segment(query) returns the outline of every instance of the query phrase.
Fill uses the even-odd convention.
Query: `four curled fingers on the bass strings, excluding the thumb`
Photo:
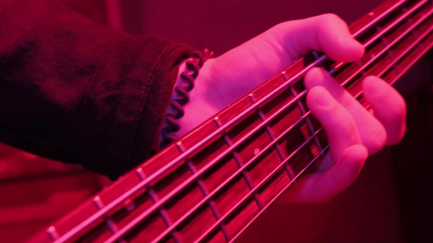
[[[324,202],[344,191],[358,177],[368,155],[396,144],[405,133],[405,101],[378,77],[362,84],[372,112],[340,87],[330,75],[315,68],[305,77],[307,104],[324,126],[330,151],[284,195],[282,202]]]

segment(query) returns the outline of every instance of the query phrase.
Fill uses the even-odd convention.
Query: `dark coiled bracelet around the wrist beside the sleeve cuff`
[[[159,144],[160,148],[165,148],[168,144],[177,139],[175,133],[181,128],[178,119],[181,119],[185,112],[183,106],[190,101],[188,94],[194,88],[194,81],[199,76],[199,70],[207,59],[212,57],[213,52],[204,48],[203,50],[196,50],[192,56],[185,62],[186,70],[180,75],[181,82],[178,82],[174,87],[174,94],[170,101],[169,113],[165,115],[165,126],[161,130],[162,140]]]

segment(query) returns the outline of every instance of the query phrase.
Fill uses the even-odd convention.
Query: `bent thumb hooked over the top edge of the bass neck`
[[[344,62],[356,61],[365,52],[364,47],[353,39],[347,23],[335,14],[288,21],[276,27],[282,33],[282,44],[293,60],[311,50],[325,52],[331,59]]]

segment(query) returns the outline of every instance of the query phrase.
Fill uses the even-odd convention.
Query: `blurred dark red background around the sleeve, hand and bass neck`
[[[216,55],[273,25],[333,12],[347,22],[379,0],[65,0],[101,24],[208,47]],[[408,105],[401,144],[371,157],[326,204],[276,204],[239,242],[433,242],[432,52],[396,87]],[[0,144],[0,242],[23,242],[109,184],[82,168]]]

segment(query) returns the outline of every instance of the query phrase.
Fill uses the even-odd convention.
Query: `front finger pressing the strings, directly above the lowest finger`
[[[311,113],[326,131],[331,158],[334,162],[340,159],[344,150],[361,143],[353,117],[333,99],[325,88],[321,86],[311,88],[308,91],[306,102]]]

